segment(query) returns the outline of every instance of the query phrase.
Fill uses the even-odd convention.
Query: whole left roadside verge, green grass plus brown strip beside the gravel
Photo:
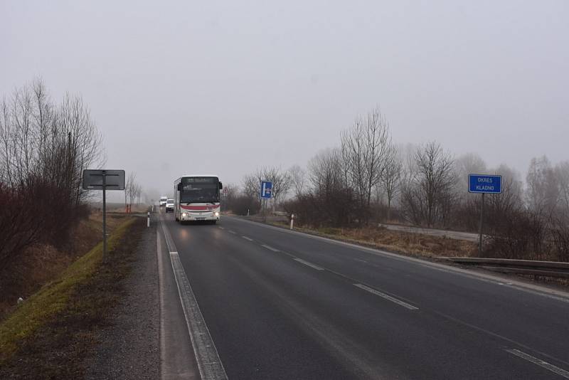
[[[133,232],[140,233],[143,222],[116,218],[106,257],[97,244],[0,322],[0,377],[80,375],[92,329],[116,303],[136,247]]]

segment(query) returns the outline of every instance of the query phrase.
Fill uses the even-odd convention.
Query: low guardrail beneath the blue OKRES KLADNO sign
[[[507,258],[447,258],[440,260],[457,264],[477,265],[479,268],[500,273],[569,278],[569,263],[558,261],[512,260]]]

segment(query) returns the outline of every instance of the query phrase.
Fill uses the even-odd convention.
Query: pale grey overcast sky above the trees
[[[0,0],[0,96],[83,96],[151,194],[305,167],[379,105],[393,140],[569,159],[569,2]],[[118,196],[118,194],[117,194]]]

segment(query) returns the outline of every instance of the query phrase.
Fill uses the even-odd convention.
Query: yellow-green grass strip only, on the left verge
[[[108,240],[109,254],[116,250],[134,218],[122,221]],[[58,279],[41,289],[19,305],[14,312],[0,323],[0,367],[8,363],[15,354],[33,342],[34,335],[63,312],[77,314],[87,305],[72,302],[73,297],[85,284],[97,276],[102,261],[102,243],[78,258],[61,273]]]

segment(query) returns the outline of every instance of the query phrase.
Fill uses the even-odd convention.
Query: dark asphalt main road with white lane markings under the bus
[[[187,366],[211,379],[569,379],[566,293],[238,218],[159,218],[178,285],[164,378],[198,378],[174,368],[191,340]]]

